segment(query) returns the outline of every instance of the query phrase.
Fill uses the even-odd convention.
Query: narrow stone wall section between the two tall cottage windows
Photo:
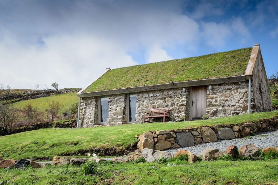
[[[126,94],[109,96],[107,126],[126,124]]]

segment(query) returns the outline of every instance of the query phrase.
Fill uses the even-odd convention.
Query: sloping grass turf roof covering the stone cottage
[[[252,48],[112,69],[83,92],[244,75]]]

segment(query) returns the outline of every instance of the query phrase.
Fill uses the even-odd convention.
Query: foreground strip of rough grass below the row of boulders
[[[261,161],[102,162],[97,175],[83,175],[77,166],[42,169],[0,169],[3,184],[277,184],[278,159]]]

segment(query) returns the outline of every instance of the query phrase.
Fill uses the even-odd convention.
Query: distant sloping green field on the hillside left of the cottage
[[[46,110],[48,108],[48,102],[52,101],[59,101],[62,105],[61,111],[69,109],[69,107],[78,102],[78,97],[76,93],[65,93],[62,95],[53,95],[48,97],[36,98],[36,99],[29,99],[23,100],[20,102],[13,103],[12,105],[15,107],[25,107],[28,103],[33,105],[33,107],[37,107],[38,110]]]

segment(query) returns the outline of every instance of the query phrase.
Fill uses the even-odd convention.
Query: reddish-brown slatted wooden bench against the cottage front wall
[[[149,121],[145,121],[146,118],[149,118]],[[168,120],[170,121],[169,108],[156,108],[150,109],[150,113],[144,112],[143,123],[151,123],[151,118],[163,118],[163,122],[165,122],[165,118],[168,118]]]

